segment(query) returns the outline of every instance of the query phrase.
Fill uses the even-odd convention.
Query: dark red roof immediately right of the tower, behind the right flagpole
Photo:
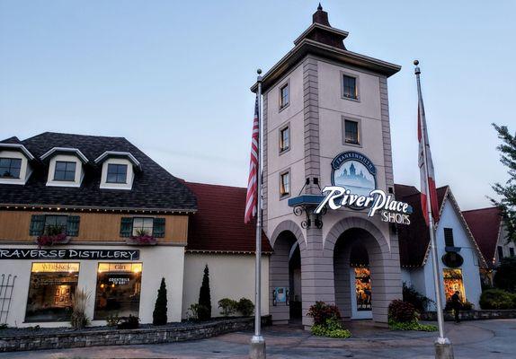
[[[437,188],[439,207],[446,195],[448,186]],[[430,243],[428,226],[424,222],[421,208],[421,195],[413,186],[395,185],[396,199],[408,203],[413,208],[410,225],[398,225],[399,258],[402,267],[421,267]]]

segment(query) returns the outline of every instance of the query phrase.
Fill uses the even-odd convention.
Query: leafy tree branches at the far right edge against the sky
[[[511,135],[506,126],[493,124],[502,140],[496,149],[501,152],[500,162],[508,167],[509,180],[505,185],[495,183],[494,192],[502,197],[500,200],[491,199],[495,206],[500,208],[503,223],[507,229],[507,241],[516,242],[516,134]]]

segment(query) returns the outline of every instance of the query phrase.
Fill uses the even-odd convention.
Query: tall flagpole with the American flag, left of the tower
[[[258,166],[257,166],[257,204],[256,204],[256,258],[254,272],[254,336],[251,338],[249,357],[265,358],[265,339],[262,336],[262,70],[256,71],[258,77]]]

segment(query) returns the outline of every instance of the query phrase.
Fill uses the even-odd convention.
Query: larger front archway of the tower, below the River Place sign
[[[390,247],[382,232],[362,218],[334,225],[325,241],[333,250],[335,303],[344,319],[387,323],[388,304],[401,297],[396,237]]]

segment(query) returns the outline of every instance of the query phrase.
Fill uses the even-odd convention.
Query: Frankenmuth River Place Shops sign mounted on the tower
[[[369,208],[369,217],[380,215],[383,222],[410,224],[412,207],[378,189],[376,176],[374,164],[363,154],[340,153],[332,161],[332,186],[323,188],[325,198],[314,212],[320,214],[325,206]]]

